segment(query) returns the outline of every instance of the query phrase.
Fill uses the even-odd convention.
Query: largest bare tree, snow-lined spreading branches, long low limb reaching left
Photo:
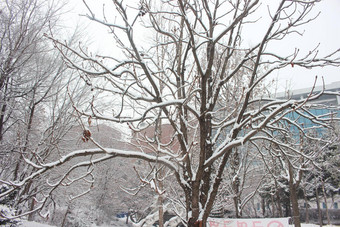
[[[72,48],[57,39],[51,40],[86,84],[103,94],[93,96],[90,111],[75,106],[83,122],[84,140],[97,148],[73,151],[48,163],[30,161],[35,172],[18,183],[8,183],[9,186],[27,184],[57,166],[82,157],[81,162],[69,167],[49,185],[51,188],[40,196],[38,209],[76,169],[84,172],[73,181],[91,177],[88,167],[107,159],[142,159],[151,166],[161,164],[171,171],[182,191],[170,200],[180,220],[187,226],[206,226],[234,149],[247,142],[256,145],[267,141],[282,152],[284,148],[307,158],[297,149],[299,141],[290,143],[276,136],[289,136],[287,125],[294,125],[302,136],[314,139],[303,125],[286,117],[287,114],[294,112],[328,127],[331,116],[318,118],[304,109],[307,100],[317,99],[322,92],[311,93],[302,100],[265,98],[257,92],[268,75],[278,69],[339,65],[338,51],[318,56],[317,49],[312,49],[305,56],[298,51],[282,56],[268,48],[270,43],[298,33],[300,26],[315,19],[309,17],[309,13],[316,2],[278,2],[276,9],[269,10],[269,23],[262,39],[246,48],[241,43],[241,37],[246,35],[242,28],[258,22],[252,14],[259,0],[178,0],[161,1],[161,4],[140,1],[138,6],[128,5],[130,1],[114,0],[114,15],[118,18],[111,18],[112,13],[106,14],[105,8],[99,18],[84,1],[89,10],[87,17],[109,29],[119,54],[93,55],[84,47]],[[142,26],[144,30],[138,33]],[[153,39],[156,36],[158,38]],[[232,88],[237,86],[234,81],[240,72],[244,75],[244,86],[234,92]],[[226,94],[230,94],[228,97],[232,100],[225,99]],[[106,148],[97,143],[85,127],[85,122],[91,119],[128,125],[134,132],[157,129],[161,119],[172,129],[169,131],[171,141],[162,143],[163,133],[154,133],[146,140],[151,146],[156,141],[154,150]],[[297,166],[291,165],[291,168]],[[156,178],[157,174],[150,176]]]

